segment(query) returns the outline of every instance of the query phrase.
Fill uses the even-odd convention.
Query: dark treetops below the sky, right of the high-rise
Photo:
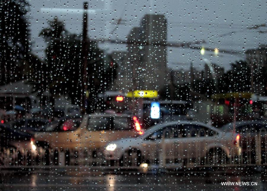
[[[257,81],[260,80],[263,86],[267,83],[264,77],[266,73],[267,71],[262,68],[257,75],[254,75],[254,78]],[[163,99],[190,100],[190,91],[200,93],[206,97],[214,93],[250,92],[251,69],[247,62],[242,60],[236,61],[235,63],[231,63],[231,69],[229,71],[217,77],[217,83],[215,83],[214,78],[202,78],[184,85],[174,85],[171,83],[171,85],[160,92],[160,96]]]

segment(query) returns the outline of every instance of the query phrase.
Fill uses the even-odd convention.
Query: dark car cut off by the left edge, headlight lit
[[[0,165],[29,165],[36,156],[35,141],[30,133],[0,125]]]

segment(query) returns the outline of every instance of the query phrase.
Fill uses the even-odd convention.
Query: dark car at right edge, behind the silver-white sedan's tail
[[[222,127],[226,134],[233,133],[234,124]],[[267,122],[262,120],[236,121],[235,132],[239,134],[241,146],[241,163],[256,163],[257,160],[267,160]],[[258,154],[256,154],[258,153]]]

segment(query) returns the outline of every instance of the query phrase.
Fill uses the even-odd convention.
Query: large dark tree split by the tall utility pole
[[[81,35],[69,33],[57,17],[48,24],[40,33],[48,43],[42,82],[55,96],[68,93],[73,103],[79,104],[83,85]],[[95,42],[90,42],[88,46],[87,74],[89,103],[93,103],[96,95],[115,79],[112,58],[105,55]]]

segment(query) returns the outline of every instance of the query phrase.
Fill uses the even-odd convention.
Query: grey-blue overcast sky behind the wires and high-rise
[[[40,58],[45,57],[43,51],[46,43],[38,34],[47,27],[47,20],[53,17],[64,21],[66,29],[80,34],[82,31],[83,1],[29,1],[31,10],[28,20],[31,23],[32,50]],[[204,47],[215,48],[220,51],[235,50],[242,52],[257,48],[259,44],[266,44],[267,27],[247,29],[253,25],[266,24],[266,1],[131,1],[131,0],[94,0],[88,1],[88,36],[94,38],[111,38],[125,40],[134,26],[139,26],[145,14],[165,14],[167,18],[167,40],[170,42],[192,42],[205,40]],[[115,34],[111,31],[116,27],[114,23],[119,18],[126,20]],[[115,20],[115,21],[114,21]],[[222,34],[236,31],[232,35]],[[261,32],[259,32],[261,31]],[[125,45],[99,44],[108,52],[126,50]],[[230,55],[205,52],[202,56],[198,50],[183,48],[168,48],[168,66],[174,69],[188,69],[190,62],[201,69],[203,59],[211,60],[228,70],[229,63],[244,59],[244,55]]]

